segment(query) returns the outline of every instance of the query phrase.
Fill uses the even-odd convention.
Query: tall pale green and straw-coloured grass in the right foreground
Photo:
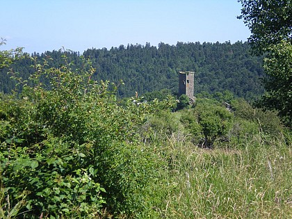
[[[163,151],[161,218],[291,218],[292,149],[283,138],[259,134],[213,150],[172,138]]]

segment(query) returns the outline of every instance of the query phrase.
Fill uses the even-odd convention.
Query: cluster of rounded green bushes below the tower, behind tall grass
[[[233,99],[228,108],[216,99],[196,99],[195,108],[178,113],[186,134],[191,136],[188,139],[201,147],[214,147],[215,143],[233,147],[258,134],[270,138],[286,135],[277,113],[253,108],[244,99]]]

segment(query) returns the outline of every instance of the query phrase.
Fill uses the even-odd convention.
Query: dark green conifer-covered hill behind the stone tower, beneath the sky
[[[47,56],[54,59],[51,65],[62,62],[62,51],[46,51],[44,54],[32,54],[40,58]],[[80,54],[67,52],[68,59],[81,65]],[[230,90],[238,97],[251,99],[263,92],[260,79],[263,76],[261,58],[250,54],[247,42],[200,43],[177,42],[176,45],[161,42],[158,47],[128,44],[127,47],[111,49],[88,49],[83,52],[85,58],[92,60],[96,68],[95,79],[125,83],[120,86],[120,97],[133,96],[137,91],[145,92],[168,88],[178,90],[178,72],[190,70],[195,72],[195,93],[209,93]],[[13,68],[24,78],[33,69],[31,60],[24,58],[17,61]],[[0,91],[10,92],[13,83],[1,70]]]

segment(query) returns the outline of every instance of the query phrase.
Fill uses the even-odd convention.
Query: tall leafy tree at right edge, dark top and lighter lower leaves
[[[292,126],[292,4],[291,0],[239,0],[241,16],[250,28],[254,54],[266,54],[266,93],[259,104],[275,109]]]

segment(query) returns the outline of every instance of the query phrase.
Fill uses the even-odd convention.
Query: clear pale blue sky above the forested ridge
[[[0,0],[0,50],[244,42],[250,31],[240,14],[237,0]]]

